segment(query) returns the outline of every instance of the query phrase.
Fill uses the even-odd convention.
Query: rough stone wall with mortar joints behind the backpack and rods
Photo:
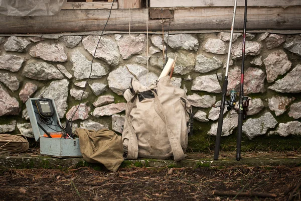
[[[228,89],[239,89],[242,34],[235,33]],[[229,33],[0,37],[0,133],[33,137],[25,102],[29,97],[55,99],[61,121],[73,116],[74,127],[121,133],[125,99],[131,78],[147,85],[163,68],[163,49],[177,56],[172,83],[187,91],[196,124],[195,136],[216,135],[221,85],[227,60]],[[246,35],[245,95],[251,97],[243,133],[301,135],[301,35]],[[168,50],[167,48],[168,41]],[[91,71],[92,55],[95,53]],[[148,66],[146,65],[148,61]],[[225,111],[223,136],[233,134],[238,115]],[[199,125],[199,126],[198,126]],[[207,142],[204,142],[207,143]]]

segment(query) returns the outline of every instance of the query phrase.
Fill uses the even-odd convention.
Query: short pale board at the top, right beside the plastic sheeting
[[[92,1],[92,0],[87,0]],[[112,3],[109,2],[67,2],[62,10],[78,9],[111,9]],[[114,2],[112,9],[117,9],[118,4]]]

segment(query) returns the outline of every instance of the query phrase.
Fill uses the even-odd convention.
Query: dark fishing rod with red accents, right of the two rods
[[[243,81],[244,81],[244,57],[246,47],[246,27],[247,27],[247,4],[245,0],[244,19],[243,19],[243,41],[242,41],[242,61],[241,61],[241,74],[240,74],[240,89],[239,89],[239,105],[238,105],[238,133],[236,143],[236,160],[240,160],[241,152],[241,137],[242,137],[242,121],[246,119],[246,112],[249,107],[249,98],[243,94]]]

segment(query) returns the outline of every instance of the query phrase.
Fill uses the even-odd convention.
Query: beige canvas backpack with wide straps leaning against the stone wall
[[[192,120],[185,91],[165,76],[150,87],[132,80],[123,96],[127,104],[122,142],[127,159],[184,159]]]

